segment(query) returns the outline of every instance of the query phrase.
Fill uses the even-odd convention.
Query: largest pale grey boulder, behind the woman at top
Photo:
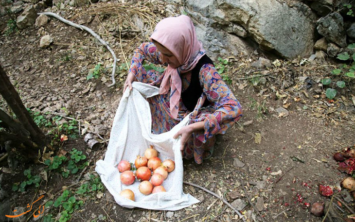
[[[187,0],[185,5],[190,16],[204,25],[239,36],[245,36],[244,29],[260,48],[285,58],[313,51],[311,19],[278,0]]]

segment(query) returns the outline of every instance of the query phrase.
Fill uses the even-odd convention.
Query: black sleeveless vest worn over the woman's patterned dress
[[[195,68],[191,70],[191,82],[189,87],[181,93],[181,99],[186,108],[189,111],[194,111],[194,108],[197,104],[198,99],[201,97],[203,89],[200,85],[199,74],[203,65],[212,64],[212,60],[205,54],[197,62]],[[210,104],[210,101],[205,100],[202,106],[207,106]]]

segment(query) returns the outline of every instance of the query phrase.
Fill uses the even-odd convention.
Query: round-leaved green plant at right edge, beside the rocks
[[[349,45],[348,49],[354,50],[355,43]],[[334,99],[337,95],[337,89],[334,88],[335,86],[339,88],[344,88],[346,86],[346,83],[342,80],[342,78],[345,78],[345,80],[355,78],[355,52],[352,55],[350,55],[348,52],[340,53],[337,55],[337,59],[342,61],[349,60],[351,63],[349,65],[342,64],[338,68],[332,70],[331,73],[339,78],[339,80],[334,82],[332,85],[332,79],[330,78],[324,78],[321,80],[323,85],[331,85],[331,87],[328,87],[325,91],[325,95],[329,100]]]

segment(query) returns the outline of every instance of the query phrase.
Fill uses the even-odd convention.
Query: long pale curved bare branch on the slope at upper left
[[[57,14],[54,14],[52,12],[41,12],[41,13],[37,13],[38,15],[46,15],[46,16],[52,16],[52,17],[55,17],[57,18],[58,20],[68,24],[68,25],[71,25],[77,29],[80,29],[80,30],[85,30],[87,31],[89,34],[91,34],[92,36],[94,36],[97,40],[99,40],[99,42],[101,44],[103,44],[104,46],[106,46],[106,48],[108,49],[108,51],[111,52],[112,56],[113,56],[113,68],[112,68],[112,75],[111,75],[111,80],[112,80],[112,84],[110,85],[107,85],[108,87],[112,87],[116,84],[116,81],[115,81],[115,72],[116,72],[116,63],[117,63],[117,57],[116,57],[116,54],[115,52],[111,49],[111,47],[109,47],[108,43],[106,41],[104,41],[98,34],[96,34],[94,31],[92,31],[90,28],[84,26],[84,25],[79,25],[79,24],[76,24],[72,21],[69,21],[61,16],[58,16]]]

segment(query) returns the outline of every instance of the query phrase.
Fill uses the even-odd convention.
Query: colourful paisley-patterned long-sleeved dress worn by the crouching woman
[[[134,51],[129,68],[129,71],[136,76],[138,81],[152,84],[162,73],[156,70],[145,70],[142,66],[144,60],[153,64],[164,65],[161,62],[160,52],[154,43],[142,43]],[[190,123],[204,121],[204,130],[193,133],[183,152],[183,157],[187,159],[194,157],[197,164],[202,163],[203,157],[212,155],[215,135],[225,134],[226,130],[242,116],[240,103],[212,64],[202,66],[199,72],[199,80],[203,93],[190,116]],[[182,91],[184,91],[190,85],[191,72],[181,74],[181,81]],[[157,86],[159,87],[159,85]],[[154,134],[161,134],[171,130],[190,113],[180,98],[179,112],[177,119],[174,119],[170,115],[169,96],[170,92],[147,99],[150,104],[152,131]],[[202,107],[206,99],[210,104]]]

